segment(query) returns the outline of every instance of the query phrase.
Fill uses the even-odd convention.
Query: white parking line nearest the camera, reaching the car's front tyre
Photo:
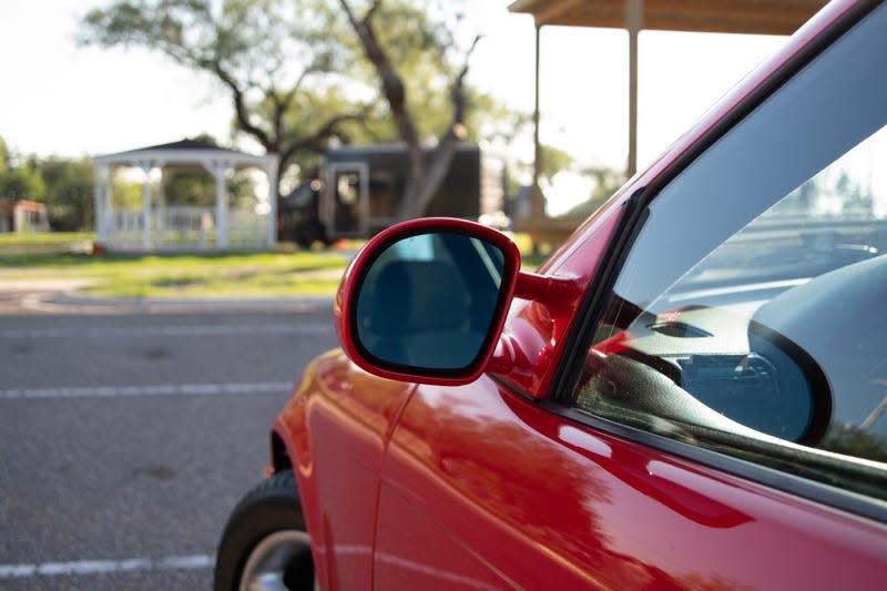
[[[210,556],[167,557],[161,559],[132,558],[126,560],[78,560],[40,564],[0,564],[0,580],[31,577],[64,577],[71,574],[111,574],[132,571],[211,569],[215,559]]]

